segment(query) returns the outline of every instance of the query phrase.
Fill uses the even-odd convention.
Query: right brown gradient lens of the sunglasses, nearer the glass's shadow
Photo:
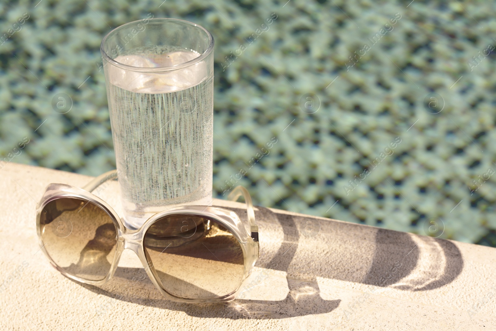
[[[170,215],[146,231],[144,250],[163,289],[184,299],[213,299],[238,289],[245,272],[243,250],[214,220]]]

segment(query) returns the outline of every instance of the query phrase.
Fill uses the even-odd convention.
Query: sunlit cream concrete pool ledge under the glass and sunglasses
[[[496,249],[263,207],[241,300],[167,301],[148,278],[132,280],[133,253],[106,285],[79,284],[39,251],[35,205],[49,183],[90,179],[0,170],[1,330],[496,330]],[[114,182],[100,196],[121,213],[118,195]],[[214,204],[246,217],[242,203]]]

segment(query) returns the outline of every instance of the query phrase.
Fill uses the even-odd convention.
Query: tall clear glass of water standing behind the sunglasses
[[[124,24],[102,52],[124,223],[212,201],[212,35],[180,19]]]

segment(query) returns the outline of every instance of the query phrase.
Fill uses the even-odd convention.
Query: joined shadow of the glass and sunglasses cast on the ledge
[[[447,240],[257,208],[261,255],[256,266],[286,272],[285,290],[289,292],[283,300],[176,303],[166,300],[147,277],[139,280],[141,268],[118,267],[107,284],[81,286],[111,298],[195,317],[281,319],[325,314],[339,306],[339,299],[322,299],[317,277],[427,291],[450,283],[463,269],[461,253]],[[246,210],[233,210],[246,219]],[[115,302],[107,300],[96,309],[110,314]]]

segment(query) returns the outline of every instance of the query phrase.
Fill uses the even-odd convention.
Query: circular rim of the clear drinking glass
[[[172,71],[172,70],[182,69],[182,68],[185,68],[185,67],[188,67],[188,66],[192,66],[194,64],[197,64],[198,62],[204,60],[207,56],[209,56],[210,53],[212,53],[212,51],[214,49],[214,37],[212,36],[212,34],[207,29],[205,29],[203,26],[201,26],[199,24],[196,24],[196,23],[193,23],[193,22],[190,22],[190,21],[186,21],[184,19],[167,18],[167,17],[150,18],[149,20],[150,21],[155,21],[155,22],[157,22],[157,21],[178,22],[178,23],[181,23],[181,24],[186,24],[186,25],[191,25],[191,26],[197,27],[200,30],[203,30],[207,34],[209,45],[208,45],[207,49],[205,50],[205,52],[203,52],[202,54],[200,54],[200,56],[194,58],[193,60],[190,60],[190,61],[187,61],[187,62],[184,62],[184,63],[181,63],[181,64],[177,64],[177,65],[174,65],[174,66],[157,66],[157,67],[151,67],[150,68],[150,67],[124,65],[124,64],[122,64],[120,62],[117,62],[114,59],[112,59],[107,54],[107,52],[105,52],[103,50],[103,45],[105,44],[105,42],[107,41],[107,38],[109,38],[110,35],[116,33],[117,31],[123,29],[126,26],[129,26],[129,25],[132,25],[132,24],[137,24],[138,22],[141,22],[142,21],[142,19],[138,19],[138,20],[135,20],[135,21],[128,22],[128,23],[125,23],[123,25],[120,25],[117,28],[114,28],[112,31],[110,31],[109,33],[107,33],[105,35],[105,37],[103,37],[102,42],[100,43],[100,53],[102,54],[102,57],[106,61],[108,61],[110,64],[112,64],[114,66],[121,67],[121,68],[126,69],[126,70],[130,70],[130,71],[139,71],[139,72]]]

